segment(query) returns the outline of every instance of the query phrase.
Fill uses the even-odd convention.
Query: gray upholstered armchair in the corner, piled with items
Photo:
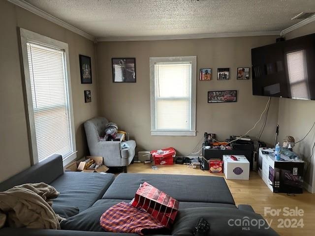
[[[90,155],[102,156],[104,165],[108,167],[123,167],[127,172],[127,165],[134,157],[136,142],[126,141],[129,148],[121,148],[119,141],[102,141],[105,136],[105,126],[108,120],[103,117],[96,117],[84,122]]]

